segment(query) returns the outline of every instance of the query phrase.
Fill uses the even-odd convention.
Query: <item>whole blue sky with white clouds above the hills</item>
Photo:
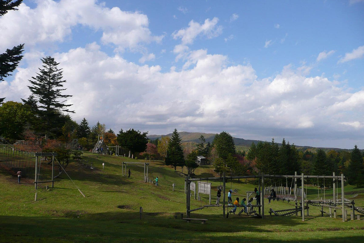
[[[116,133],[229,132],[364,148],[364,0],[24,0],[0,17],[0,82],[21,101],[52,56],[71,117]]]

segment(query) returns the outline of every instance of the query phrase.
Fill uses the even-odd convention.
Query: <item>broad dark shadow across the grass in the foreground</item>
[[[84,215],[80,211],[64,211],[63,217],[0,216],[1,242],[363,242],[363,230],[276,231],[276,227],[295,227],[298,220],[222,219],[206,217],[206,224],[186,223],[173,214],[139,212],[120,209]],[[178,217],[179,216],[179,217]],[[309,231],[309,232],[307,232]],[[302,233],[301,233],[302,232]]]

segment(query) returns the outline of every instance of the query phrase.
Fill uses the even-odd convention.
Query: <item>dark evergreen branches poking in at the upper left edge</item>
[[[18,10],[18,7],[23,0],[0,0],[0,16],[5,15],[10,10]],[[24,44],[14,46],[12,49],[7,49],[4,53],[0,53],[0,81],[4,81],[5,77],[10,76],[18,66],[23,56],[21,53],[24,51]],[[0,98],[0,104],[3,103],[5,98]]]

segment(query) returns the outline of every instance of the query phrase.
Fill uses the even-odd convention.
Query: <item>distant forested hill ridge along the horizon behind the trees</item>
[[[179,132],[178,133],[179,136],[181,137],[182,142],[195,142],[198,143],[198,138],[203,135],[206,139],[206,142],[212,142],[214,140],[215,137],[215,133],[190,133],[190,132]],[[172,133],[166,134],[166,135],[149,135],[147,136],[149,139],[151,140],[155,140],[157,138],[161,138],[162,136],[167,136],[167,137],[171,137]],[[258,144],[258,142],[264,142],[264,141],[260,141],[260,140],[248,140],[248,139],[243,139],[243,138],[234,138],[234,142],[236,146],[242,146],[242,147],[250,147],[250,145],[252,145],[252,142],[254,142],[255,144]],[[270,141],[267,141],[270,142]],[[281,145],[281,141],[276,141],[277,144],[280,146]],[[292,142],[289,141],[291,144]],[[294,141],[293,141],[294,142]],[[296,145],[296,144],[295,144]],[[353,144],[354,147],[354,144]],[[312,147],[312,146],[300,146],[300,145],[296,145],[296,148],[298,150],[317,150],[319,148],[316,147]],[[351,152],[351,149],[340,149],[340,148],[320,148],[320,149],[324,149],[325,151],[329,151],[329,150],[344,150],[344,151],[348,151]],[[361,149],[361,152],[363,152],[364,150]]]

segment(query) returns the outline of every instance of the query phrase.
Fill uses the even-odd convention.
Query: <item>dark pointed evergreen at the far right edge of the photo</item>
[[[359,186],[364,184],[363,156],[356,145],[351,152],[347,175],[350,185]]]

